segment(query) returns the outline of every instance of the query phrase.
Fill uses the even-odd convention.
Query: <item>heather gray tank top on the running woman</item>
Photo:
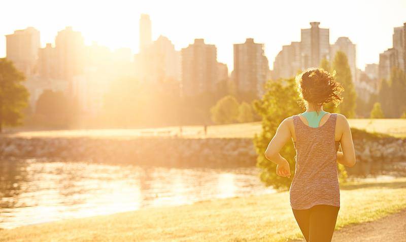
[[[289,190],[292,209],[309,209],[315,205],[340,207],[337,114],[331,113],[327,122],[317,128],[305,125],[299,115],[292,117],[296,133],[295,175]]]

